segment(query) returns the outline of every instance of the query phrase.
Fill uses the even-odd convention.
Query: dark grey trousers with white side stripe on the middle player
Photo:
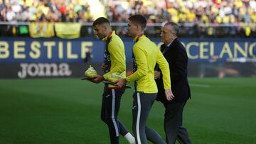
[[[146,126],[146,120],[149,111],[153,105],[156,94],[145,94],[143,92],[135,92],[133,95],[132,107],[132,131],[134,132],[137,144],[146,144],[147,140],[156,144],[165,144],[161,136],[156,131]]]

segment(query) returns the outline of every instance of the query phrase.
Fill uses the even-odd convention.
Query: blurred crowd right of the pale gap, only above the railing
[[[112,0],[107,4],[107,15],[114,22],[142,13],[153,23],[256,23],[255,0]]]

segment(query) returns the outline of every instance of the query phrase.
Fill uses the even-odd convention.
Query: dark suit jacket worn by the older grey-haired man
[[[166,46],[164,44],[161,45],[161,52],[164,51],[165,47]],[[157,88],[159,90],[156,101],[161,101],[164,104],[186,101],[188,98],[191,97],[187,78],[188,56],[186,53],[186,49],[176,38],[171,43],[169,48],[164,52],[164,57],[169,63],[171,75],[171,91],[173,92],[175,98],[171,101],[167,101],[164,92],[163,77],[161,74],[159,79],[156,79]],[[160,71],[158,66],[156,66],[156,70]]]

